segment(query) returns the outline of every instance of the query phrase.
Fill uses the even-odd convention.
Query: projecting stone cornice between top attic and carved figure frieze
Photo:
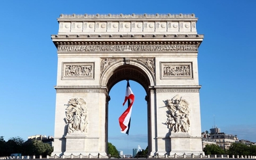
[[[52,35],[54,45],[197,45],[204,35]]]

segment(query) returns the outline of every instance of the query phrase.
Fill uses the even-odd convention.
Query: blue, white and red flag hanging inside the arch
[[[124,113],[118,118],[119,124],[121,127],[121,132],[129,135],[130,123],[131,123],[131,113],[132,113],[132,104],[134,102],[134,94],[132,93],[129,81],[127,81],[127,87],[125,92],[125,102],[128,100],[128,108],[124,111]]]

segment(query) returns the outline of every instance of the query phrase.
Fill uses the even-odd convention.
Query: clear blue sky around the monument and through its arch
[[[57,18],[64,14],[195,13],[202,131],[214,124],[239,139],[256,141],[256,1],[13,1],[1,0],[1,122],[4,140],[54,135]],[[131,82],[136,96],[130,135],[120,133],[118,116],[125,82],[110,92],[109,141],[118,150],[147,147],[145,91]],[[124,90],[124,95],[115,94]]]

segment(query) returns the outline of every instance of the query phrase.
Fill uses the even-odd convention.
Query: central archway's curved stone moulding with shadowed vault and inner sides
[[[136,81],[137,83],[141,84],[143,86],[146,95],[145,100],[147,100],[147,116],[150,115],[150,87],[152,86],[151,83],[154,82],[154,75],[152,75],[150,72],[148,72],[148,68],[146,65],[141,63],[141,61],[138,58],[124,58],[123,61],[119,61],[119,63],[115,63],[111,65],[108,69],[108,72],[106,74],[102,75],[102,83],[101,85],[106,85],[108,87],[108,90],[110,91],[111,88],[118,82],[123,80],[132,80]],[[108,76],[107,76],[108,75]],[[104,78],[103,78],[104,77]],[[150,82],[150,79],[153,80]],[[106,122],[108,122],[108,98],[106,103]],[[148,116],[150,117],[150,116]],[[152,132],[152,129],[150,127],[150,118],[147,118],[147,129],[148,129],[148,148],[151,148],[150,143],[150,133]],[[106,123],[106,135],[108,135],[108,123]],[[106,136],[106,141],[108,141],[108,136]]]

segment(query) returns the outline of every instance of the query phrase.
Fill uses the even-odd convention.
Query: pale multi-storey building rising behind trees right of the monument
[[[215,127],[210,129],[210,134],[207,132],[202,133],[202,146],[203,148],[207,144],[216,144],[223,149],[228,149],[232,143],[238,142],[238,138],[232,134],[225,134],[220,132],[220,129]]]

